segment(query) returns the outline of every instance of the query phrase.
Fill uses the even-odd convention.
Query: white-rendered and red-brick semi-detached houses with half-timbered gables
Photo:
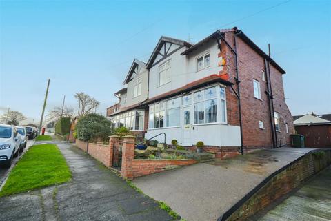
[[[283,74],[237,28],[197,44],[161,37],[146,64],[134,59],[126,88],[115,93],[120,108],[107,113],[114,127],[146,138],[165,133],[168,144],[203,141],[215,153],[276,148],[289,145],[294,131]],[[155,139],[163,142],[161,135]]]

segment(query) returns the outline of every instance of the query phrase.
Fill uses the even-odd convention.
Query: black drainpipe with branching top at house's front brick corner
[[[234,77],[234,80],[236,81],[236,85],[237,85],[237,91],[234,90],[234,88],[231,86],[232,90],[234,91],[234,94],[237,96],[238,99],[238,106],[239,106],[239,126],[240,126],[240,141],[241,141],[241,146],[240,146],[240,151],[241,151],[241,155],[243,155],[243,122],[241,119],[241,99],[240,99],[240,89],[239,89],[239,84],[240,84],[240,80],[239,80],[239,67],[238,67],[238,55],[237,55],[237,41],[236,41],[236,35],[239,34],[241,31],[238,30],[237,32],[237,28],[234,28],[234,30],[236,30],[236,33],[234,33],[233,35],[233,39],[234,39],[234,48],[232,48],[230,46],[230,44],[228,44],[228,41],[225,40],[225,37],[222,36],[221,32],[219,32],[219,37],[221,37],[221,39],[225,42],[225,44],[232,50],[232,52],[234,53],[234,61],[235,61],[235,65],[236,65],[236,77]],[[218,41],[218,40],[217,40]],[[219,42],[218,42],[219,44]],[[221,51],[221,47],[219,48],[219,50]]]

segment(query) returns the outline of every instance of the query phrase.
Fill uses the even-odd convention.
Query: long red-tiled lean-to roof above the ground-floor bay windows
[[[197,88],[201,88],[203,86],[206,86],[208,84],[214,84],[214,83],[221,83],[221,84],[225,84],[225,85],[233,85],[232,82],[227,81],[225,79],[222,78],[221,75],[209,75],[208,77],[203,77],[197,81],[193,81],[189,84],[186,84],[185,86],[182,86],[180,88],[174,89],[174,90],[170,90],[167,93],[163,93],[161,95],[157,95],[155,97],[152,97],[150,99],[146,99],[145,101],[139,103],[139,104],[134,104],[132,106],[127,106],[125,108],[121,108],[119,111],[117,111],[116,113],[112,114],[112,115],[117,115],[119,113],[123,113],[124,111],[130,111],[134,108],[143,108],[143,106],[146,106],[147,104],[153,103],[153,102],[158,102],[162,99],[167,99],[170,97],[174,97],[177,95],[181,95],[185,92],[189,92],[190,90],[194,90]],[[112,116],[110,115],[110,116]]]

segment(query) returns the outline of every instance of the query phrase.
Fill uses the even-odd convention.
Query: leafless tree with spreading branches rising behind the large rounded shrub
[[[79,117],[83,117],[84,115],[88,113],[92,113],[93,111],[95,112],[95,110],[97,110],[97,107],[100,105],[100,102],[98,102],[93,97],[86,95],[86,93],[83,92],[76,93],[74,97],[77,99],[79,103],[78,112],[77,112]]]

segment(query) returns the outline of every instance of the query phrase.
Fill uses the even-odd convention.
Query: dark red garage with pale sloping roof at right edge
[[[331,114],[293,116],[297,133],[305,136],[305,146],[331,147]]]

